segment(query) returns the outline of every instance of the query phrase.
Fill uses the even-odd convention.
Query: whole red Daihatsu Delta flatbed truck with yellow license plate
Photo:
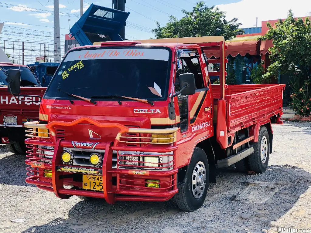
[[[220,58],[207,59],[209,50]],[[62,199],[175,197],[180,209],[194,211],[216,168],[265,172],[285,85],[225,85],[226,62],[222,36],[70,50],[39,121],[25,124],[26,182]],[[219,63],[220,72],[208,73],[208,63]],[[220,85],[209,75],[219,75]]]

